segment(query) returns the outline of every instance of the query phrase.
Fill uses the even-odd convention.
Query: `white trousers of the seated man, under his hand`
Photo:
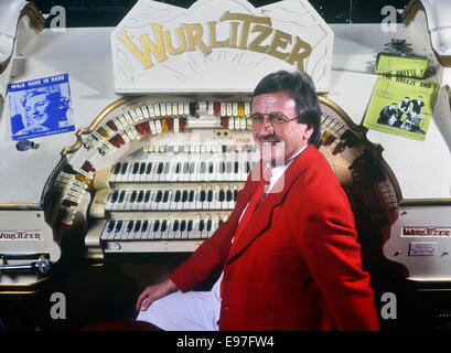
[[[217,331],[221,311],[221,281],[211,291],[180,290],[163,297],[140,311],[137,320],[150,322],[164,331]]]

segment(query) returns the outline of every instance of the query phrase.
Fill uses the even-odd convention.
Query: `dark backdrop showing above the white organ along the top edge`
[[[42,13],[53,6],[66,10],[66,26],[116,26],[138,0],[34,0]],[[248,0],[256,8],[273,0]],[[190,8],[195,0],[161,0],[181,8]],[[409,0],[310,0],[327,23],[379,23],[385,6],[404,9]],[[50,19],[49,19],[50,21]],[[47,21],[47,22],[49,22]],[[400,22],[400,19],[399,21]]]

